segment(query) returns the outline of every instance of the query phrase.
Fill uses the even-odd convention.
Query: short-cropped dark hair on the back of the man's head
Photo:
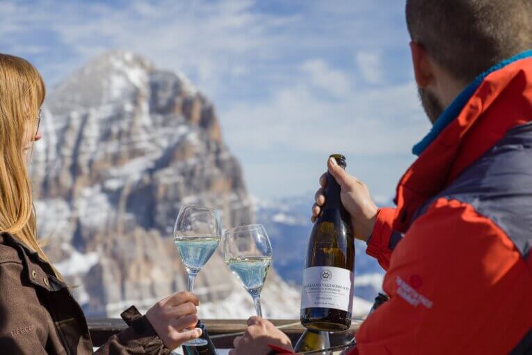
[[[457,79],[532,49],[531,0],[407,0],[410,37]]]

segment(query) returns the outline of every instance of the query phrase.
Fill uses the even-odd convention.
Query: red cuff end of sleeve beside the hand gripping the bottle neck
[[[395,208],[380,208],[377,212],[377,219],[373,232],[368,239],[366,254],[376,258],[382,269],[387,270],[392,251],[401,240],[401,233],[393,230]]]

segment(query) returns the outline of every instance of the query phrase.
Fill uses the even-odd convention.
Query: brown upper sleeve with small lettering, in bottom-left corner
[[[2,354],[47,354],[49,329],[46,310],[35,289],[22,280],[22,263],[0,264],[0,349]]]

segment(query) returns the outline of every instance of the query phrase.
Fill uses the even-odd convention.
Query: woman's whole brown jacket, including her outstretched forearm
[[[135,307],[122,313],[129,328],[94,354],[169,354]],[[87,322],[67,285],[18,239],[0,234],[0,354],[93,354]]]

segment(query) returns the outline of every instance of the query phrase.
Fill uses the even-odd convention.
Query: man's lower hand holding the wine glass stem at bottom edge
[[[229,355],[266,355],[271,352],[268,344],[293,352],[290,339],[285,333],[266,319],[253,316],[248,319],[248,329],[244,335],[234,338],[234,349],[229,351]]]

